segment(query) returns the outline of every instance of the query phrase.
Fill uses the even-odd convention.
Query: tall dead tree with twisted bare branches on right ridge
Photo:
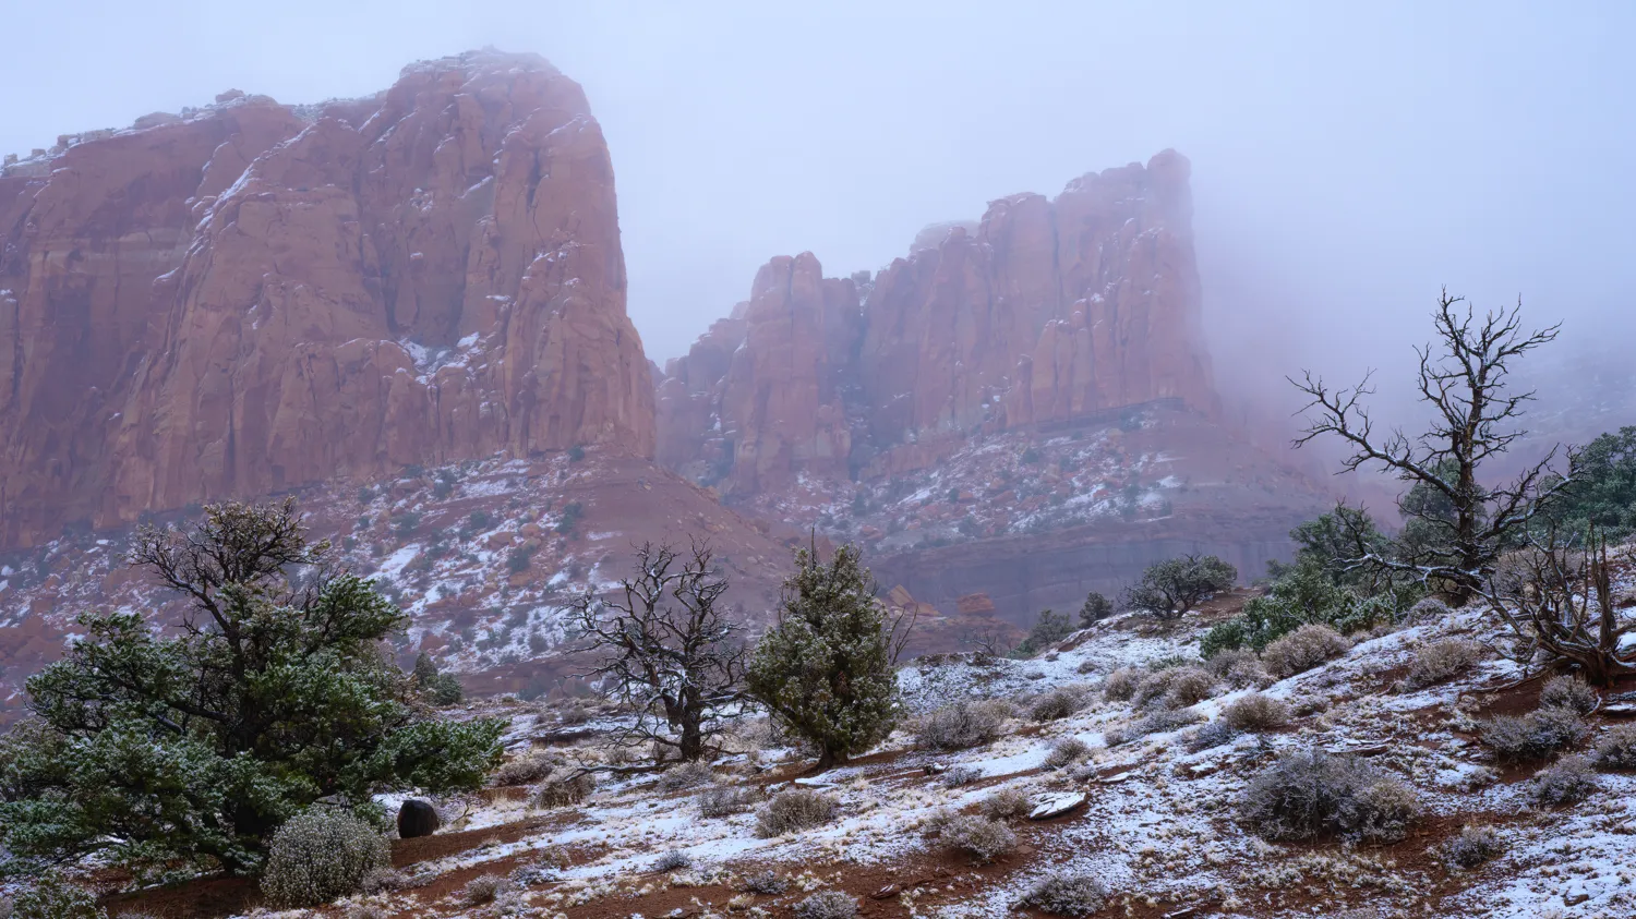
[[[1358,554],[1346,564],[1440,582],[1456,603],[1481,592],[1499,554],[1521,541],[1541,507],[1574,477],[1572,469],[1566,476],[1551,473],[1557,456],[1557,448],[1553,448],[1508,484],[1479,484],[1482,463],[1526,435],[1515,424],[1533,392],[1507,392],[1510,361],[1553,342],[1561,324],[1523,332],[1520,303],[1508,311],[1489,312],[1481,322],[1469,304],[1461,307],[1464,303],[1464,298],[1453,298],[1445,289],[1432,314],[1438,352],[1433,353],[1433,345],[1415,348],[1420,356],[1418,397],[1433,409],[1430,428],[1418,437],[1409,437],[1397,427],[1376,432],[1361,404],[1364,396],[1374,392],[1369,386],[1373,371],[1350,389],[1330,389],[1312,371],[1306,371],[1301,381],[1291,379],[1310,397],[1304,407],[1309,425],[1296,446],[1317,437],[1338,437],[1353,451],[1342,463],[1345,471],[1378,464],[1414,486],[1415,500],[1400,500],[1399,507],[1410,525],[1420,528],[1422,538],[1371,548],[1358,535],[1353,540]],[[1569,451],[1567,458],[1572,468],[1574,453]]]

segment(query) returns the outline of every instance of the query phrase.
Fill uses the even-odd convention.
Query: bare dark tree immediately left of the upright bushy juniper
[[[602,677],[609,695],[635,710],[627,739],[695,760],[738,715],[744,626],[717,608],[728,581],[708,545],[695,540],[682,556],[643,543],[635,567],[610,597],[586,590],[571,607],[602,652],[586,675]]]

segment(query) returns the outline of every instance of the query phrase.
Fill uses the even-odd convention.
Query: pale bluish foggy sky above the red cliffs
[[[0,152],[229,87],[317,101],[412,59],[546,56],[609,137],[661,363],[772,255],[874,270],[1165,147],[1193,160],[1234,410],[1286,415],[1301,366],[1379,366],[1402,397],[1441,285],[1564,321],[1553,366],[1623,361],[1631,332],[1629,3],[0,2]]]

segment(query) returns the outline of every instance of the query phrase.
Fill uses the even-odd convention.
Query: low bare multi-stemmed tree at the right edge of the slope
[[[1621,652],[1636,618],[1621,616],[1613,602],[1607,543],[1595,533],[1577,549],[1554,525],[1543,536],[1530,533],[1528,548],[1487,577],[1484,598],[1512,628],[1512,657],[1523,666],[1572,662],[1597,685],[1636,674],[1636,649]]]

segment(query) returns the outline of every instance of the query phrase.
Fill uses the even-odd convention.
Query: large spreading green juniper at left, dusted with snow
[[[28,680],[36,720],[0,744],[0,872],[88,854],[254,872],[317,801],[368,814],[388,788],[481,785],[504,724],[424,715],[381,644],[404,613],[327,549],[290,500],[141,530],[131,559],[185,597],[180,623],[82,613]]]

